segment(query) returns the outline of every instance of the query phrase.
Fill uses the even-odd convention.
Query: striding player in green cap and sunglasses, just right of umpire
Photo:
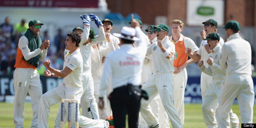
[[[147,55],[152,54],[154,72],[142,87],[149,95],[148,101],[141,100],[141,115],[150,128],[159,127],[159,119],[152,114],[149,106],[151,100],[160,95],[163,106],[169,116],[172,127],[183,128],[173,101],[172,74],[174,71],[173,55],[174,44],[168,40],[169,28],[166,24],[159,24],[155,27],[157,31],[157,43],[148,47]]]

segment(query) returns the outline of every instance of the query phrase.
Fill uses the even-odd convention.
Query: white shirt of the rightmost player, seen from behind
[[[243,40],[239,33],[230,35],[222,46],[220,65],[227,69],[227,76],[230,75],[252,75],[251,45]]]

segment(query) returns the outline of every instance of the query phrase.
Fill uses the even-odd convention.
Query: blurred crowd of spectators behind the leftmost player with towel
[[[4,22],[0,23],[0,75],[13,75],[19,39],[24,35],[26,29],[29,28],[28,22],[24,18],[17,24],[11,24],[10,21],[11,18],[7,16]],[[49,38],[47,30],[43,31],[41,37],[42,40],[50,40],[51,43],[46,59],[51,60],[53,68],[62,69],[65,49],[64,42],[66,40],[62,29],[57,30],[54,40]],[[42,65],[42,62],[39,64],[37,68],[38,73],[43,75],[45,67]]]

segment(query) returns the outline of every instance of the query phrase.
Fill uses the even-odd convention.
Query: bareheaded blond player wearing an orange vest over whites
[[[181,124],[184,124],[184,95],[185,88],[188,81],[188,74],[186,66],[195,62],[195,60],[188,60],[188,55],[185,54],[185,49],[192,49],[192,53],[196,53],[198,47],[195,42],[188,37],[181,34],[183,30],[183,22],[181,20],[172,20],[172,36],[170,41],[175,45],[174,55],[174,72],[173,72],[173,97],[174,106],[177,109]]]

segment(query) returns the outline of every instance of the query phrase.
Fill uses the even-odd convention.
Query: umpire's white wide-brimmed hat
[[[116,36],[117,38],[123,38],[127,40],[134,40],[134,41],[140,40],[139,38],[135,37],[135,29],[127,26],[124,26],[122,28],[121,34],[113,33],[113,35]]]

